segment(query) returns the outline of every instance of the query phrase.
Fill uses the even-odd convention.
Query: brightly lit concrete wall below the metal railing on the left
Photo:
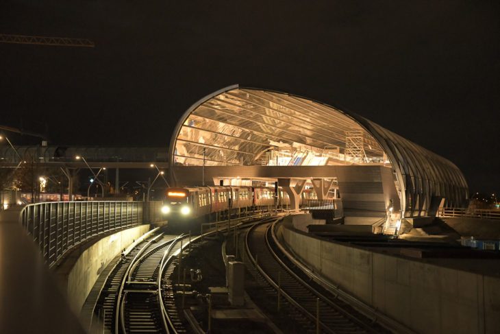
[[[149,224],[140,225],[99,239],[85,249],[71,252],[55,270],[75,314],[80,313],[101,271],[149,228]]]

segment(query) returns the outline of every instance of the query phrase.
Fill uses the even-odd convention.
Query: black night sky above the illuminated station
[[[0,125],[46,122],[53,144],[166,146],[199,98],[250,84],[353,110],[500,189],[498,1],[4,0],[0,32],[96,43],[0,44]]]

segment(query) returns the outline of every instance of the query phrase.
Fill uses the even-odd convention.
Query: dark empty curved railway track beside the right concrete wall
[[[306,282],[289,269],[286,257],[271,236],[272,222],[249,228],[245,247],[261,280],[282,296],[282,302],[295,309],[292,316],[310,331],[323,333],[390,333],[355,311],[346,302],[318,286]]]

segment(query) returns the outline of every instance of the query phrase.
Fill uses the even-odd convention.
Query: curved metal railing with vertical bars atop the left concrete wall
[[[142,224],[143,202],[46,202],[21,211],[21,224],[49,264],[105,232]]]

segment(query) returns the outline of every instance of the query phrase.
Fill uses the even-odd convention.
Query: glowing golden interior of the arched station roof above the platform
[[[175,142],[181,165],[384,164],[373,136],[343,112],[299,97],[236,88],[203,102]]]

